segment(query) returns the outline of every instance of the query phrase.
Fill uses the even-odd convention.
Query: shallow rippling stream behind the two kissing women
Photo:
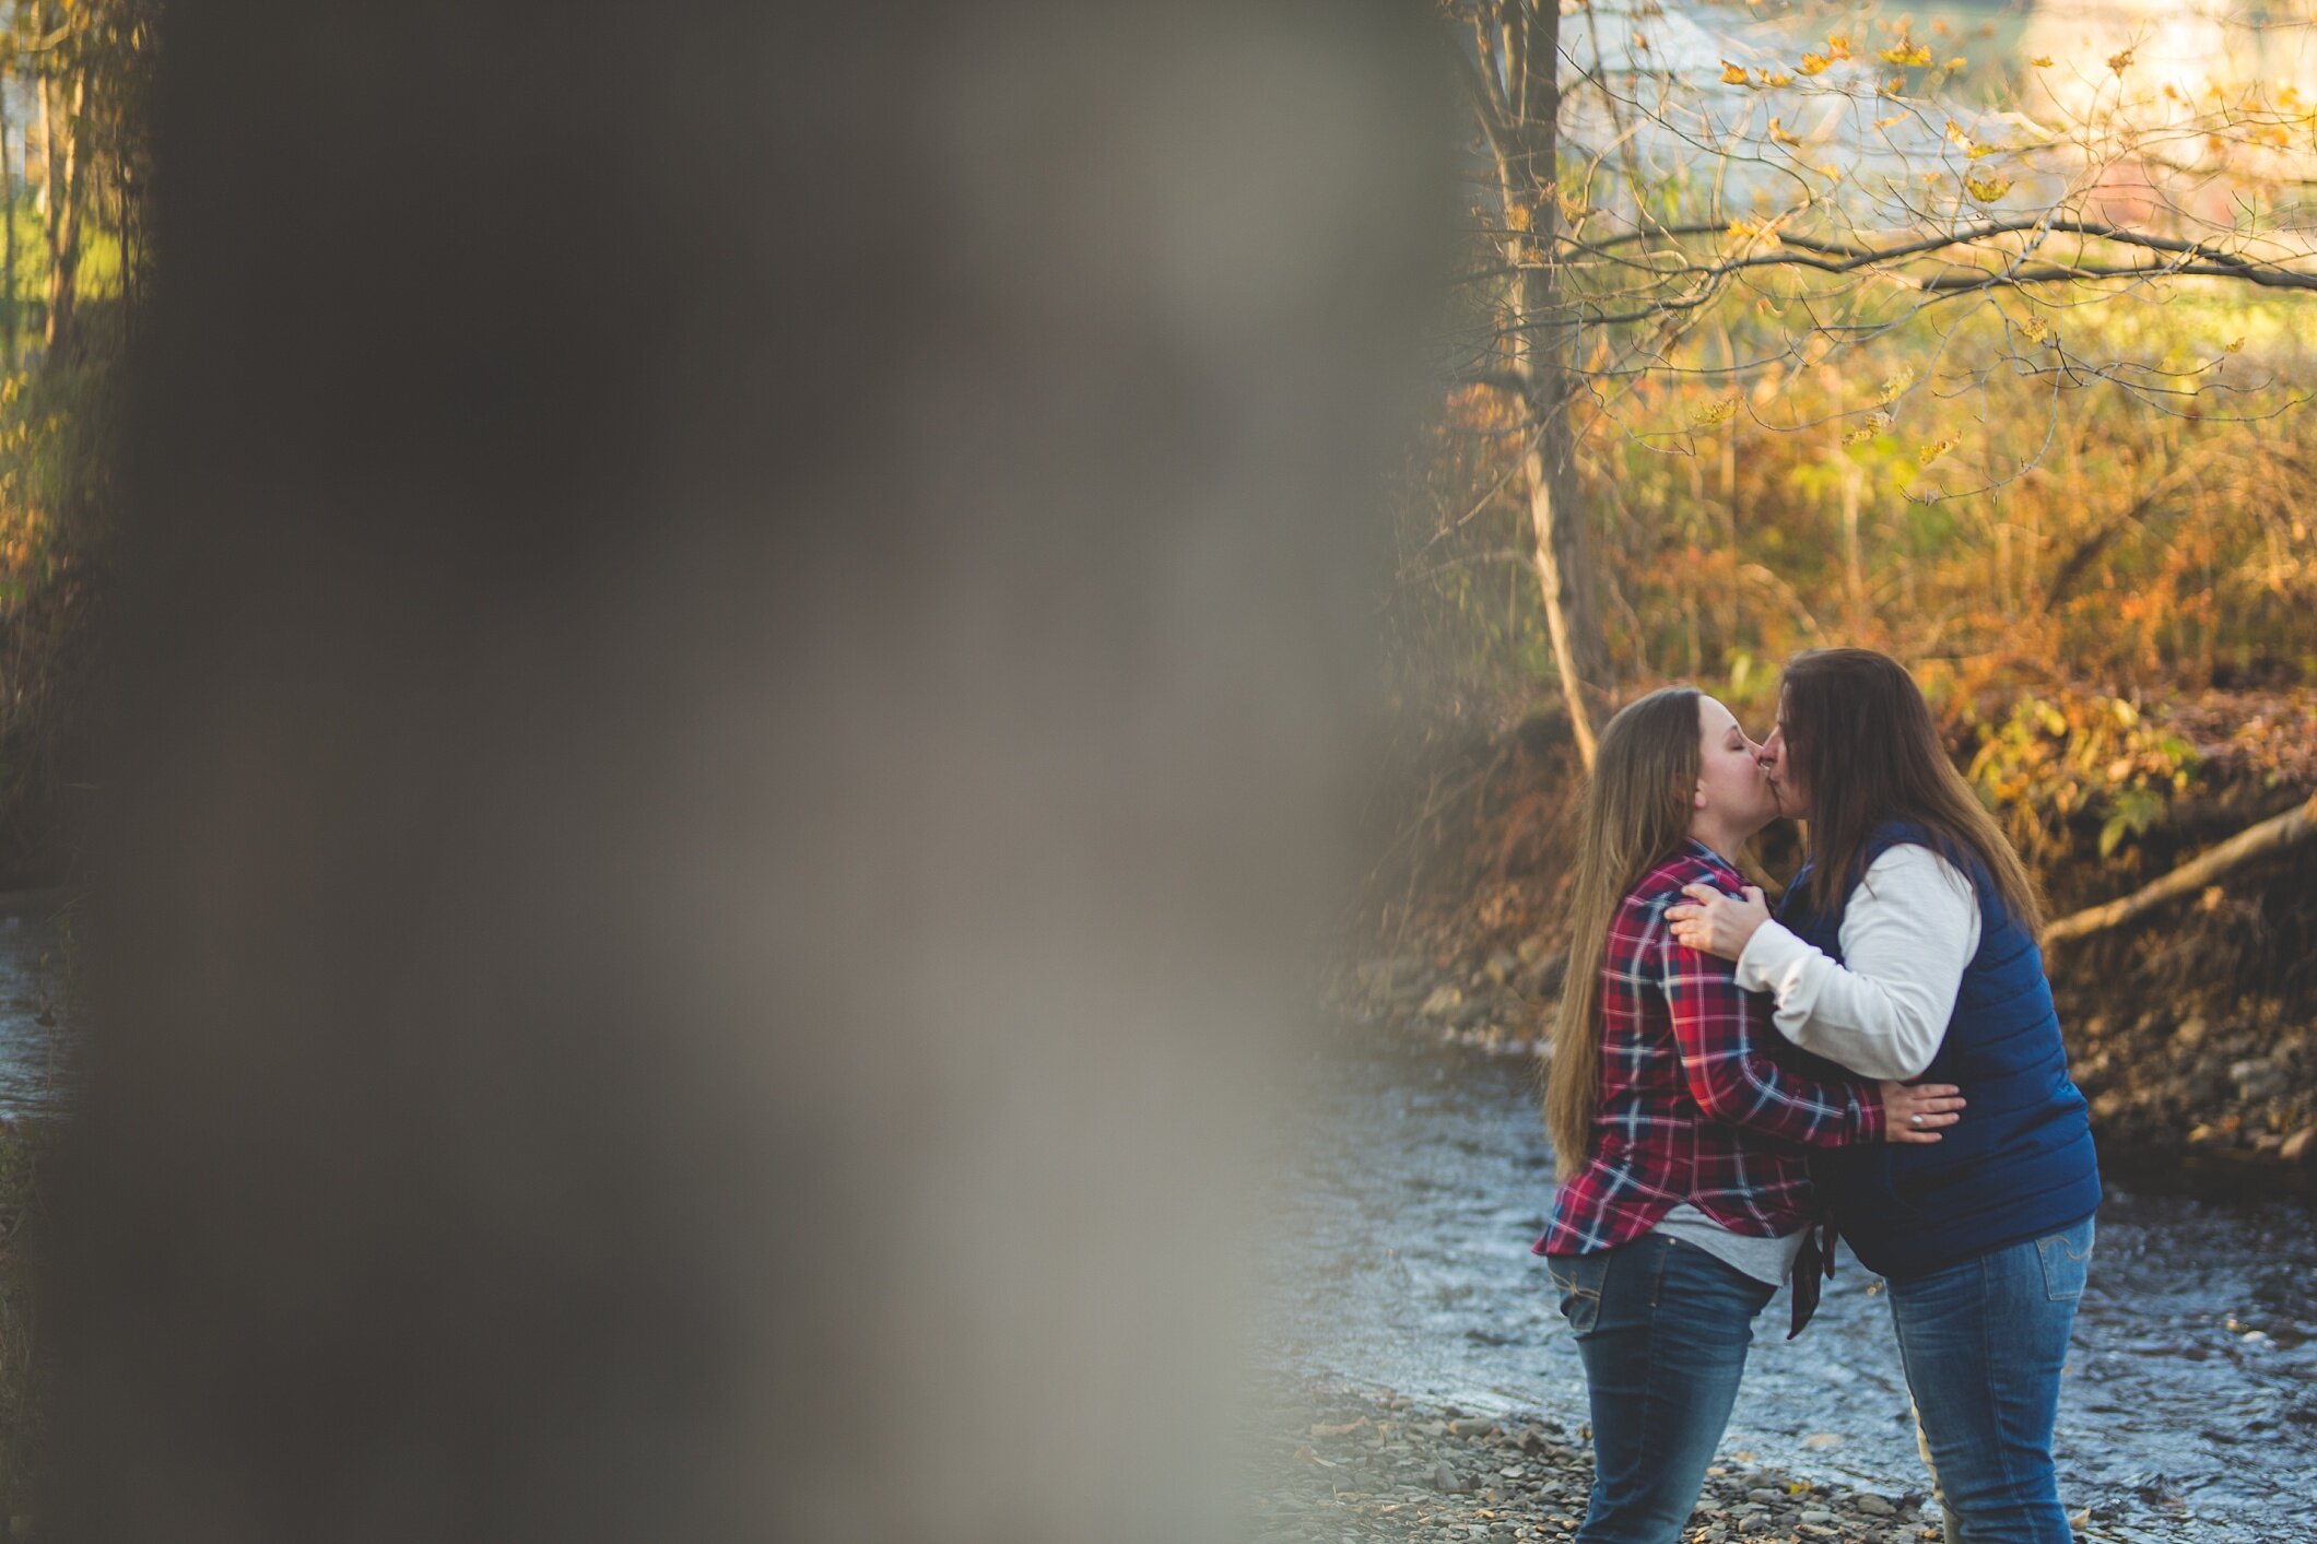
[[[1346,1030],[1302,1072],[1274,1231],[1277,1370],[1474,1412],[1585,1417],[1552,1308],[1552,1157],[1525,1058]],[[2305,1194],[2108,1178],[2060,1405],[2060,1486],[2092,1537],[2266,1544],[2317,1498],[2317,1229]],[[1844,1257],[1819,1317],[1756,1322],[1724,1454],[1925,1491],[1877,1280]]]

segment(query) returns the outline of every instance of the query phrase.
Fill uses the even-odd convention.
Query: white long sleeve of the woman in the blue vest
[[[1777,1032],[1870,1079],[1930,1065],[1979,951],[1979,896],[1930,847],[1905,843],[1868,863],[1842,910],[1842,961],[1777,921],[1754,928],[1738,986],[1766,991]]]

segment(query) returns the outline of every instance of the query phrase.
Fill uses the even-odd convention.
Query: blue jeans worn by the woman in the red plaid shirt
[[[1552,1255],[1545,1269],[1592,1398],[1594,1488],[1578,1544],[1673,1544],[1728,1426],[1754,1315],[1777,1289],[1659,1234]]]

